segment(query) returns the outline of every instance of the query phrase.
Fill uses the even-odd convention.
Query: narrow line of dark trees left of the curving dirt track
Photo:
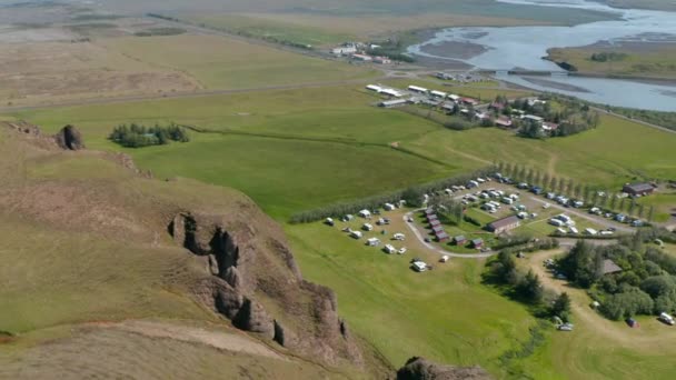
[[[567,293],[549,294],[537,274],[531,270],[523,273],[516,264],[514,253],[503,250],[489,262],[486,280],[503,287],[510,298],[525,302],[539,317],[558,317],[564,322],[570,320],[570,298]]]

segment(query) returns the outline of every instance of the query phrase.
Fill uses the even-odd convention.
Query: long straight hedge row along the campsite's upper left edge
[[[302,211],[291,216],[289,222],[310,223],[329,217],[335,218],[348,213],[355,213],[364,209],[379,209],[385,203],[397,203],[400,200],[405,200],[406,203],[410,207],[421,207],[424,203],[425,194],[435,194],[436,192],[444,191],[445,189],[450,188],[453,186],[466,184],[470,179],[495,173],[495,167],[488,167],[469,174],[451,177],[425,184],[418,184],[405,190],[392,191],[390,193],[374,196],[360,200],[355,200],[351,202],[329,204],[319,209]]]

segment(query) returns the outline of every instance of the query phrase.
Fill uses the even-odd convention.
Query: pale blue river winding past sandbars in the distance
[[[486,70],[543,70],[563,72],[555,63],[544,60],[550,48],[584,47],[600,41],[638,39],[645,43],[676,41],[676,13],[638,9],[615,9],[586,0],[535,1],[497,0],[515,4],[541,7],[568,7],[616,12],[619,21],[598,21],[574,27],[505,27],[505,28],[448,28],[438,31],[431,39],[411,46],[412,54],[461,61]],[[454,49],[464,43],[477,47],[473,57],[458,57]],[[656,84],[629,80],[580,78],[556,74],[553,77],[525,78],[499,76],[500,80],[514,82],[539,91],[553,91],[578,97],[588,101],[617,107],[640,108],[658,111],[676,111],[676,86],[674,82]]]

